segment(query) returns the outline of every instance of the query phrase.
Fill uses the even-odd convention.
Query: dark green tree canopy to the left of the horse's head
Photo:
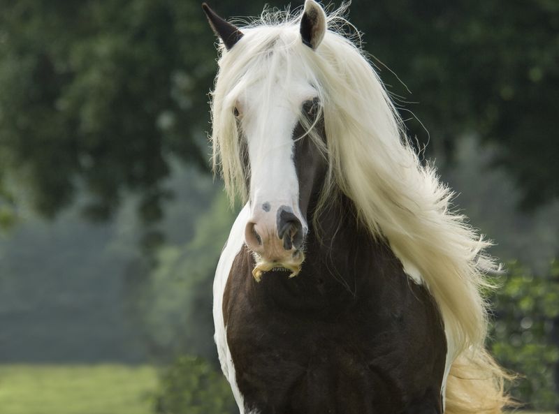
[[[2,1],[0,173],[45,216],[85,188],[90,219],[133,191],[159,220],[168,154],[205,165],[212,40],[195,1]]]

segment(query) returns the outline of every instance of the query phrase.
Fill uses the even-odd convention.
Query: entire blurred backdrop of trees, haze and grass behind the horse
[[[234,212],[208,168],[200,6],[0,1],[1,414],[235,413],[212,341]],[[507,268],[488,346],[511,393],[556,412],[559,1],[355,0],[349,20]]]

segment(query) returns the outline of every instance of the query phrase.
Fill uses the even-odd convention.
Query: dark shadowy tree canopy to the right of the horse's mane
[[[431,155],[451,156],[460,137],[479,133],[498,144],[495,162],[516,179],[523,207],[559,196],[558,1],[391,0],[350,11],[409,134],[426,144],[425,125],[433,136]]]

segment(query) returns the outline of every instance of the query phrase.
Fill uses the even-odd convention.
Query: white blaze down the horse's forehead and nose
[[[279,207],[289,207],[303,224],[299,209],[299,183],[293,162],[293,129],[300,108],[313,90],[302,82],[271,87],[256,82],[238,99],[240,124],[250,160],[250,219],[273,231]]]

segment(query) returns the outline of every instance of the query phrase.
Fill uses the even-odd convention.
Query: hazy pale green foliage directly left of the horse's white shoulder
[[[233,219],[225,194],[215,193],[211,207],[198,214],[191,241],[158,250],[139,298],[143,325],[158,355],[215,359],[212,281]]]

